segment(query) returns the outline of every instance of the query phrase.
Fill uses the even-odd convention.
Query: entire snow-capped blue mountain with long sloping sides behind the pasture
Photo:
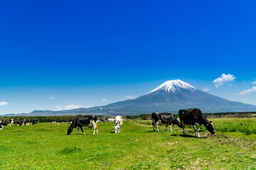
[[[138,98],[110,103],[107,106],[67,111],[33,111],[26,115],[139,115],[152,112],[178,113],[183,108],[200,108],[203,113],[256,111],[254,105],[228,101],[177,79],[166,81]]]

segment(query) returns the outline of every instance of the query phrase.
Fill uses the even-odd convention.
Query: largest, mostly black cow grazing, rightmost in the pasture
[[[195,130],[195,137],[200,137],[199,129],[202,124],[206,126],[206,129],[210,133],[212,133],[213,135],[215,134],[213,123],[211,121],[209,122],[203,115],[202,111],[198,108],[181,109],[178,111],[178,116],[181,120],[184,135],[186,135],[186,132],[184,130],[186,125],[193,125],[193,128]]]

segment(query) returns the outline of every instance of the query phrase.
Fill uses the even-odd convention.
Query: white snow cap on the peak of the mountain
[[[154,91],[161,91],[161,90],[168,91],[168,92],[170,91],[175,92],[175,91],[180,91],[181,89],[195,91],[196,87],[191,86],[190,84],[187,84],[184,81],[176,79],[176,80],[170,80],[170,81],[164,82],[160,86],[156,87],[156,89],[149,91],[149,93],[147,94],[151,94]]]

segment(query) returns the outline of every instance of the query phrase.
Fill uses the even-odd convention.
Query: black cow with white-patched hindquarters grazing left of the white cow
[[[68,127],[68,134],[70,135],[70,133],[73,131],[74,128],[78,129],[78,133],[79,133],[79,128],[80,130],[82,130],[82,126],[87,126],[93,127],[93,134],[95,135],[95,130],[97,130],[97,117],[95,115],[80,115],[74,118],[73,122],[71,123],[70,127]],[[82,130],[83,134],[85,135],[85,132]],[[97,131],[98,133],[98,131]]]

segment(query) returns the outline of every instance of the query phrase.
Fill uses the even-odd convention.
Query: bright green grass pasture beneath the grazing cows
[[[85,134],[69,125],[38,123],[0,130],[0,169],[256,169],[256,119],[211,119],[215,136],[202,125],[201,137],[153,132],[151,121],[97,123],[99,134]]]

